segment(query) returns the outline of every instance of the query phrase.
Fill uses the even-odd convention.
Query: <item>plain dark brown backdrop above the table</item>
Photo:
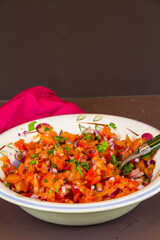
[[[0,0],[0,98],[160,94],[160,1]]]

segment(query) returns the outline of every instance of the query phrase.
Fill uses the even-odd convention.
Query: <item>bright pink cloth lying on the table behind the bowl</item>
[[[0,133],[35,119],[74,113],[84,112],[48,88],[29,88],[0,107]]]

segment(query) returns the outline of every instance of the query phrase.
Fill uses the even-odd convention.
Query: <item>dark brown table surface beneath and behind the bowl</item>
[[[136,119],[160,129],[159,96],[68,98],[87,113],[103,113]],[[4,101],[0,101],[0,106]],[[160,193],[140,203],[126,215],[94,226],[68,227],[32,217],[20,207],[0,200],[0,239],[160,239]]]

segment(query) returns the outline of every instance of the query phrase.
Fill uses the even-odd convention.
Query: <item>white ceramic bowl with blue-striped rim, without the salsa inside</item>
[[[81,124],[80,122],[97,122],[103,124],[113,122],[117,126],[116,134],[118,134],[121,138],[125,138],[126,133],[131,139],[135,138],[135,135],[128,129],[138,133],[139,136],[146,132],[151,133],[153,136],[159,134],[159,130],[145,123],[111,115],[73,114],[43,118],[36,120],[36,122],[36,125],[39,123],[49,123],[58,133],[61,129],[72,133],[80,133],[80,128],[83,128],[83,126],[93,127],[93,125]],[[0,151],[0,156],[8,154],[11,162],[13,163],[15,161],[13,157],[15,150],[11,143],[17,141],[19,138],[24,138],[26,141],[30,141],[36,134],[31,133],[23,136],[23,132],[25,130],[28,130],[28,123],[22,124],[1,134],[0,148],[3,145],[8,145]],[[18,133],[21,134],[20,137],[18,136]],[[23,197],[15,192],[12,192],[2,183],[0,183],[0,197],[13,204],[19,205],[29,214],[47,222],[72,226],[102,223],[126,214],[140,202],[160,191],[160,176],[158,174],[160,172],[159,159],[160,151],[157,151],[154,157],[154,160],[156,160],[156,167],[152,178],[153,180],[148,186],[135,193],[113,200],[86,204],[43,202]],[[2,165],[2,163],[0,164]],[[16,164],[16,162],[14,162],[14,164]],[[2,179],[4,178],[4,174],[1,169],[0,177]]]

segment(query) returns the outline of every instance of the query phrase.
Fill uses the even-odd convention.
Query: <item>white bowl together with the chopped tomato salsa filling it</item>
[[[59,224],[121,216],[159,191],[158,151],[121,168],[121,161],[147,140],[144,133],[159,131],[96,114],[50,117],[13,128],[0,139],[0,196]]]

